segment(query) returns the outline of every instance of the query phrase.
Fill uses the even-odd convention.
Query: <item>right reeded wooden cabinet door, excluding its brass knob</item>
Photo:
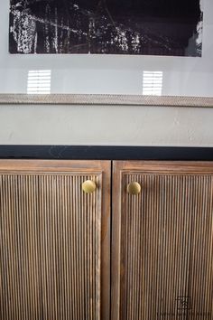
[[[113,194],[112,320],[213,319],[213,163],[115,162]]]

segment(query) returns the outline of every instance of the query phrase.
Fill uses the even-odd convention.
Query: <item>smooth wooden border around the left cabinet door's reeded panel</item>
[[[0,174],[102,174],[100,231],[100,319],[110,317],[111,161],[0,160]],[[98,187],[98,186],[97,186]]]

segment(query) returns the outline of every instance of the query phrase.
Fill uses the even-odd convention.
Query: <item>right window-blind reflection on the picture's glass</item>
[[[162,95],[162,71],[144,71],[143,73],[143,95]]]

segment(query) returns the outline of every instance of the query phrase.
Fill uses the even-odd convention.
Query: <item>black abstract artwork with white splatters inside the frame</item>
[[[11,53],[200,57],[202,0],[11,0]]]

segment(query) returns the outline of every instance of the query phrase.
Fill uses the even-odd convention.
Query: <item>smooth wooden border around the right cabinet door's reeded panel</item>
[[[213,162],[114,161],[112,181],[111,320],[120,320],[120,250],[123,174],[205,174],[213,175]]]

